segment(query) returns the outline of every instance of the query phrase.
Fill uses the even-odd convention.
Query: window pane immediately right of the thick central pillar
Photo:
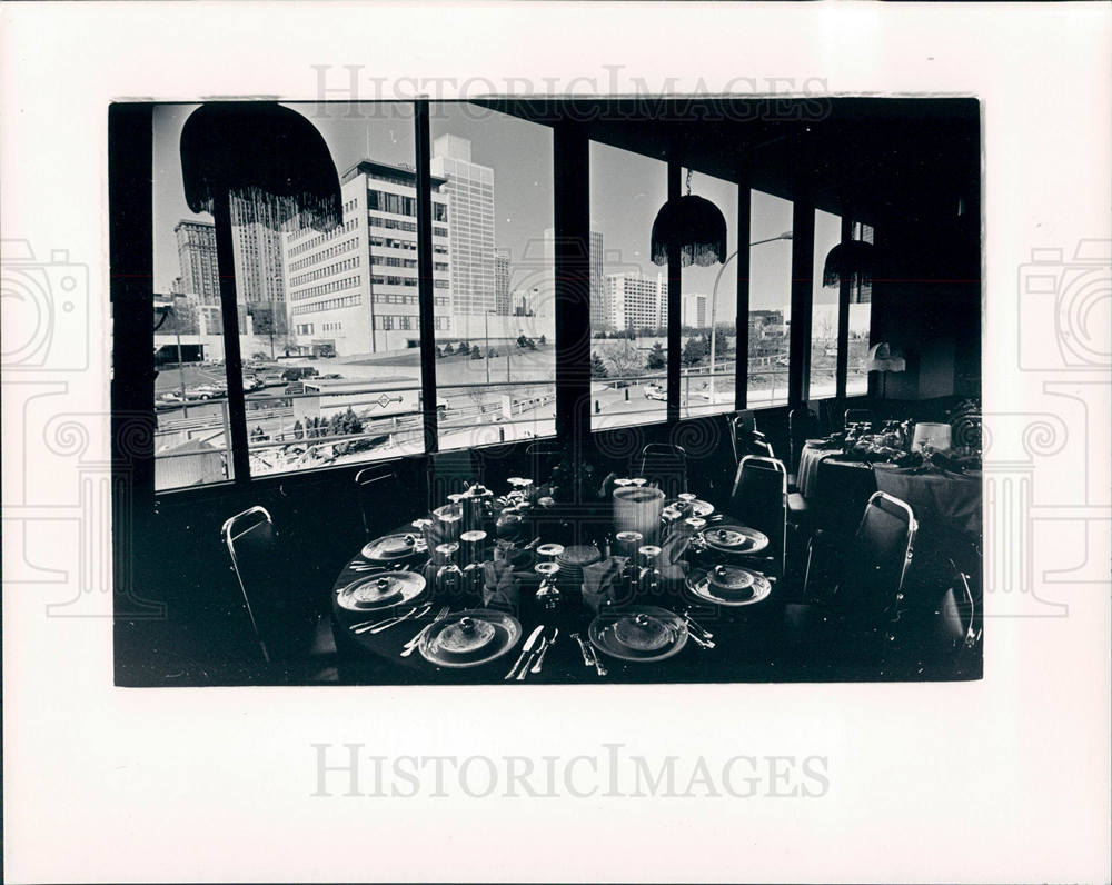
[[[668,167],[590,143],[592,428],[667,418],[667,268],[651,231],[668,197]]]

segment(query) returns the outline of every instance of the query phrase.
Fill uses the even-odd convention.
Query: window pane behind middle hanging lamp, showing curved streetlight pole
[[[736,395],[737,185],[696,172],[692,176],[692,193],[713,202],[725,217],[726,262],[709,267],[691,265],[681,271],[679,414],[683,417],[733,411]],[[715,329],[713,366],[712,327]]]

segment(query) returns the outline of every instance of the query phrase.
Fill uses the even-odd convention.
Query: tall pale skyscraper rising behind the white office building
[[[433,142],[429,169],[446,182],[443,192],[451,206],[451,312],[490,312],[496,309],[494,170],[471,162],[471,142],[453,135]]]

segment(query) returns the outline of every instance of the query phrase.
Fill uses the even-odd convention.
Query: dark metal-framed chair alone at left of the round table
[[[266,508],[250,507],[236,514],[224,524],[220,535],[264,662],[308,658],[314,653],[334,655],[335,646],[328,647],[330,630],[318,637],[318,600],[294,577]],[[286,674],[288,677],[288,668]]]

